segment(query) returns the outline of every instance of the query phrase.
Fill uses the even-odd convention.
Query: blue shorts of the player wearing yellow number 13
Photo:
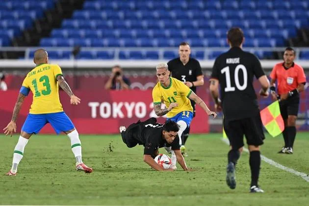
[[[22,131],[37,134],[47,123],[52,125],[57,134],[75,128],[68,115],[62,111],[49,114],[28,114]]]

